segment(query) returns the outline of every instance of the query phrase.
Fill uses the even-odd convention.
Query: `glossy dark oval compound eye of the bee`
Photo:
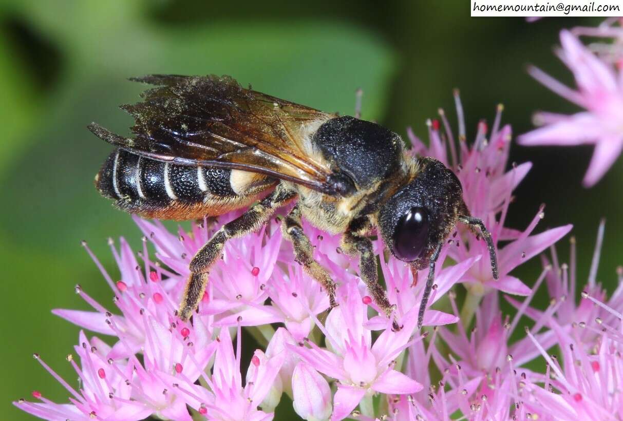
[[[394,254],[403,262],[416,260],[424,251],[429,233],[429,215],[423,207],[412,207],[398,220],[394,231]]]

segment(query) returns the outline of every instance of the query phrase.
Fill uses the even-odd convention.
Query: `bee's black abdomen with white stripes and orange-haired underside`
[[[244,207],[274,181],[260,174],[181,166],[115,150],[95,176],[102,196],[126,212],[159,219],[196,219]]]

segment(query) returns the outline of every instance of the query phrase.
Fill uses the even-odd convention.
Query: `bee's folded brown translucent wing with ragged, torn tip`
[[[307,133],[335,117],[240,87],[233,78],[149,75],[143,102],[122,105],[132,138],[89,129],[135,154],[183,165],[242,169],[328,191],[328,164],[310,154]],[[307,144],[306,144],[307,143]]]

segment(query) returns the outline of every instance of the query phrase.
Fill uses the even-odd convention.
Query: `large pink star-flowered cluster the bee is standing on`
[[[458,227],[439,257],[429,300],[434,310],[424,319],[430,328],[418,331],[423,282],[414,282],[403,263],[386,259],[378,240],[389,300],[404,326],[392,331],[358,277],[357,261],[338,252],[338,237],[304,226],[316,260],[338,282],[340,305],[328,311],[326,294],[294,263],[291,245],[272,220],[255,234],[227,242],[192,323],[186,323],[176,306],[189,260],[238,213],[176,233],[158,221],[136,219],[145,235],[140,260],[125,240],[111,241],[119,270],[114,278],[85,244],[113,291],[115,308],[76,286],[92,310],[54,310],[99,335],[80,331],[74,354],[67,356],[80,381],[72,386],[35,354],[67,389],[69,402],[57,404],[35,391],[34,402],[22,399],[17,407],[50,420],[259,421],[272,419],[286,394],[306,420],[447,420],[457,412],[473,420],[623,416],[617,386],[623,375],[623,287],[606,302],[592,270],[576,305],[573,253],[573,270],[559,265],[555,254],[551,263],[544,260],[533,288],[511,275],[571,226],[534,234],[543,208],[523,230],[504,226],[511,192],[530,163],[506,169],[511,131],[500,125],[502,106],[492,127],[480,121],[468,144],[458,93],[455,101],[458,135],[440,110],[440,119],[428,125],[428,148],[409,131],[412,153],[434,156],[457,173],[470,211],[492,232],[500,280],[493,280],[484,241]],[[427,270],[418,274],[426,276]],[[538,310],[530,303],[543,282],[552,300]],[[459,310],[456,296],[462,291]],[[515,306],[513,318],[502,316],[500,293]],[[522,318],[531,319],[532,327],[514,340]],[[242,362],[242,329],[262,348],[248,365]],[[100,336],[112,338],[112,346]],[[558,357],[547,353],[554,344]],[[526,369],[537,357],[545,359],[543,372]]]

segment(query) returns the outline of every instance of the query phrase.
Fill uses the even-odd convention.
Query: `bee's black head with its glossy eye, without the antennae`
[[[421,158],[419,164],[417,176],[381,207],[379,227],[396,258],[423,268],[468,212],[460,181],[450,169],[432,158]]]

